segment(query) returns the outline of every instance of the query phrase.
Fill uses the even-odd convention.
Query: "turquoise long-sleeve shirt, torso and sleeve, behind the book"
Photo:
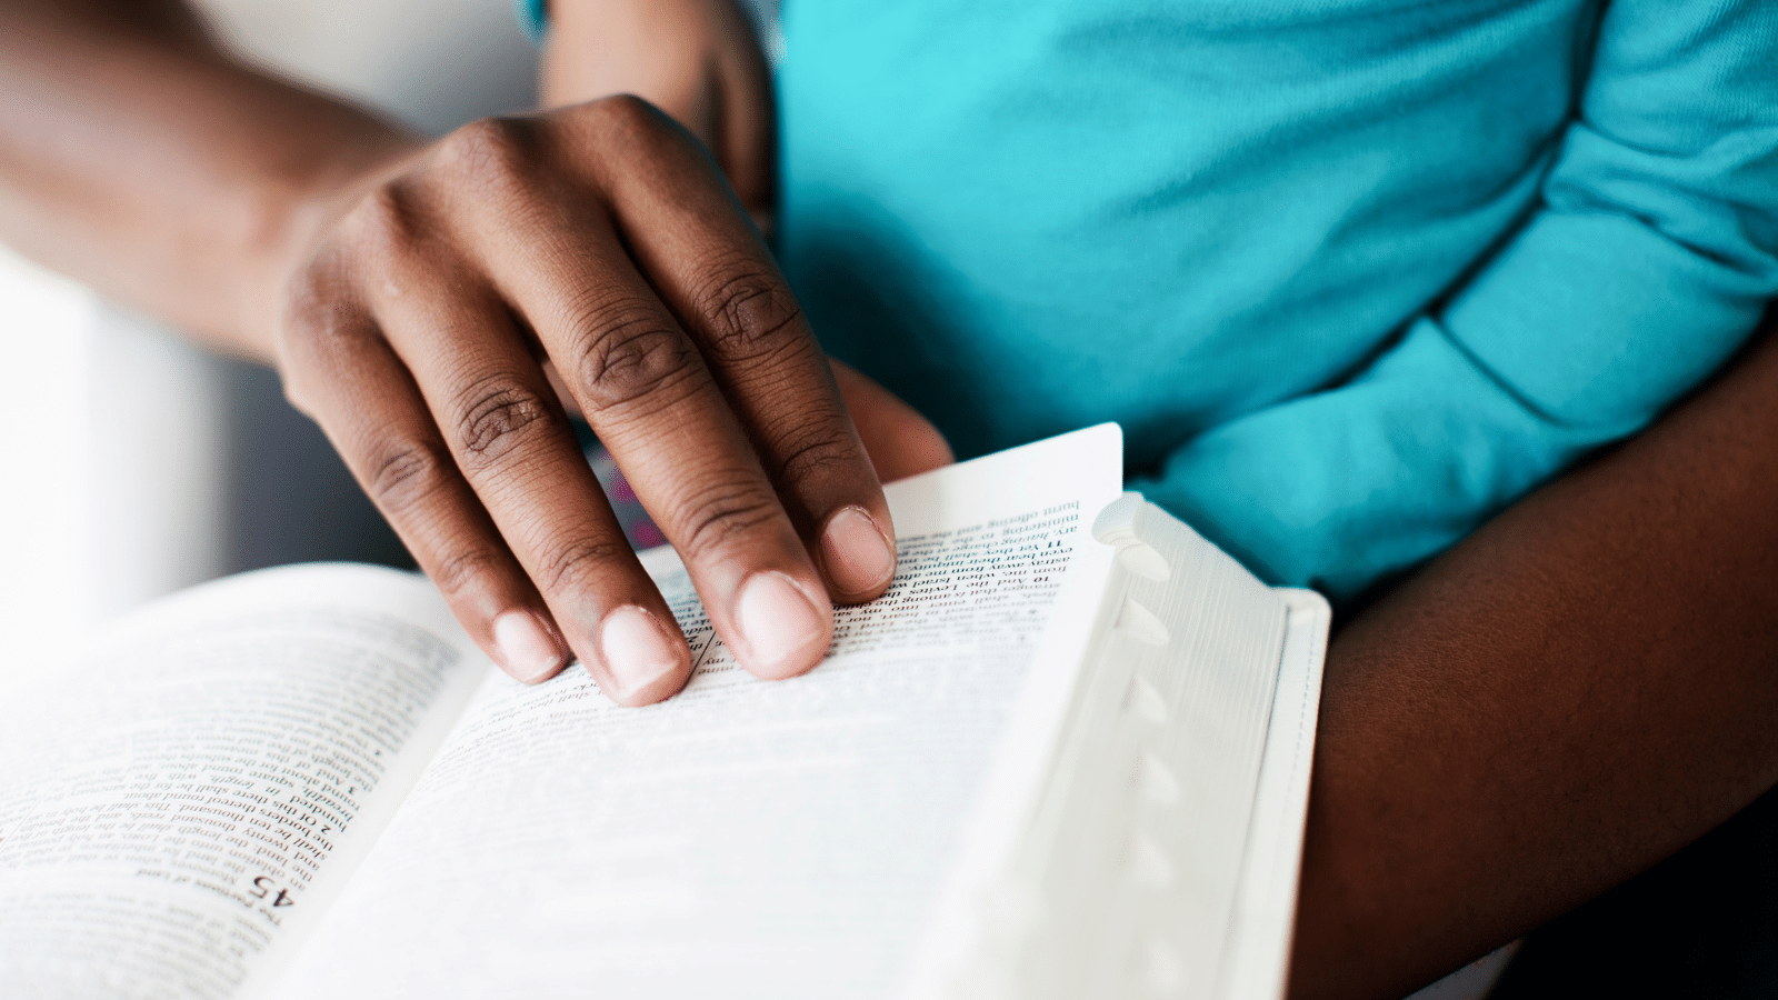
[[[789,0],[781,253],[960,456],[1351,594],[1643,427],[1778,295],[1778,4]]]

